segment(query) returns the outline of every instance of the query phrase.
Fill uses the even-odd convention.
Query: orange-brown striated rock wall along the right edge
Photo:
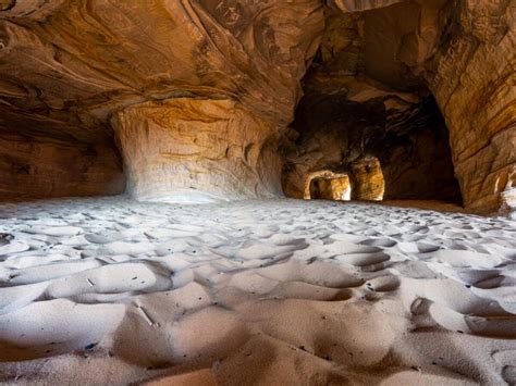
[[[516,2],[459,1],[427,78],[450,127],[464,203],[516,208]]]

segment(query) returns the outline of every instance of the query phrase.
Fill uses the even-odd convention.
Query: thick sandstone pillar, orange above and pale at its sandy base
[[[232,100],[179,98],[111,119],[138,200],[209,202],[281,196],[278,130]]]

